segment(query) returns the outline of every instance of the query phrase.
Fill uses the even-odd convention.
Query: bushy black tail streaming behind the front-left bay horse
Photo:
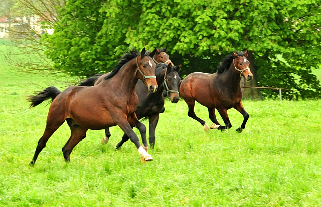
[[[54,99],[61,93],[61,91],[54,86],[50,86],[50,87],[46,88],[45,90],[38,91],[36,93],[38,93],[38,94],[28,97],[28,101],[31,102],[30,108],[38,106],[39,104],[41,104],[42,102],[44,102],[50,98],[51,98],[50,102],[53,102]]]

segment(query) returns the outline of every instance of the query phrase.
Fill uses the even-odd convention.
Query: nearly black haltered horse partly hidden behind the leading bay
[[[158,85],[158,89],[155,93],[148,93],[146,86],[142,81],[138,81],[135,86],[135,92],[139,99],[138,107],[135,111],[136,116],[139,119],[148,117],[149,122],[149,146],[154,147],[155,144],[155,128],[158,123],[159,113],[165,111],[164,108],[164,96],[163,90],[170,94],[170,99],[172,103],[177,103],[180,99],[179,96],[179,84],[181,83],[181,78],[179,76],[179,71],[181,66],[172,66],[172,63],[165,64],[159,63],[156,65],[155,75]],[[86,79],[81,85],[90,86],[90,84],[99,84],[102,76],[97,74],[93,77]],[[96,80],[95,80],[96,79]],[[95,81],[94,81],[95,80]],[[101,143],[108,143],[109,137],[111,136],[109,128],[105,129],[105,137],[101,140]],[[120,149],[122,144],[128,140],[126,134],[123,135],[122,140],[116,145],[117,149]]]

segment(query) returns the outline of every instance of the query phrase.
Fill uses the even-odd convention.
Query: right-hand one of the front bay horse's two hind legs
[[[70,154],[74,147],[82,140],[88,129],[85,129],[79,125],[73,125],[70,127],[71,135],[65,146],[62,148],[65,161],[70,162]]]

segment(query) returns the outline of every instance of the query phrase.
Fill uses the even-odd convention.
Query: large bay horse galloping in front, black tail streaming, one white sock
[[[51,135],[66,121],[71,135],[62,148],[66,162],[70,162],[73,148],[82,140],[88,129],[99,130],[118,125],[135,144],[142,161],[152,161],[147,153],[146,127],[140,123],[134,113],[138,106],[135,85],[138,79],[143,80],[148,92],[155,93],[157,82],[155,63],[152,53],[143,48],[125,54],[112,72],[102,82],[93,87],[70,86],[63,92],[56,87],[48,87],[30,96],[30,108],[45,100],[52,99],[47,124],[43,136],[39,139],[35,155],[30,162],[35,165],[39,153],[45,148]],[[138,73],[139,72],[139,73]],[[143,146],[132,127],[137,127],[141,133]]]

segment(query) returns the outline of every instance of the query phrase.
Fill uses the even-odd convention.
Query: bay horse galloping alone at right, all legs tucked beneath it
[[[197,120],[204,126],[205,131],[211,129],[230,129],[232,124],[229,120],[227,110],[235,108],[243,115],[241,127],[237,132],[242,132],[245,128],[249,114],[245,111],[242,100],[242,90],[240,86],[241,77],[247,81],[252,80],[253,75],[247,60],[248,51],[234,52],[226,56],[214,74],[195,72],[191,73],[182,81],[180,94],[187,103],[188,116]],[[209,127],[204,120],[196,116],[194,112],[195,101],[208,108],[209,118],[213,121]],[[225,126],[220,125],[215,116],[215,109],[221,115]]]

